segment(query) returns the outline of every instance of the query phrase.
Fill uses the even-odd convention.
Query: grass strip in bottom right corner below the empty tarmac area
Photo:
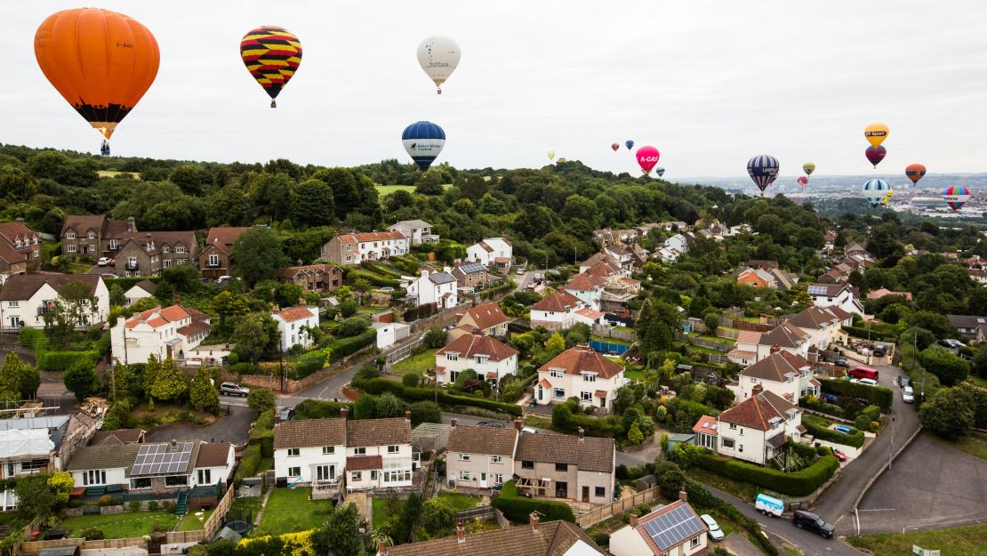
[[[847,540],[858,548],[867,548],[874,556],[911,554],[912,545],[916,544],[927,550],[940,550],[947,555],[984,556],[987,555],[987,523],[905,534],[851,536]]]

